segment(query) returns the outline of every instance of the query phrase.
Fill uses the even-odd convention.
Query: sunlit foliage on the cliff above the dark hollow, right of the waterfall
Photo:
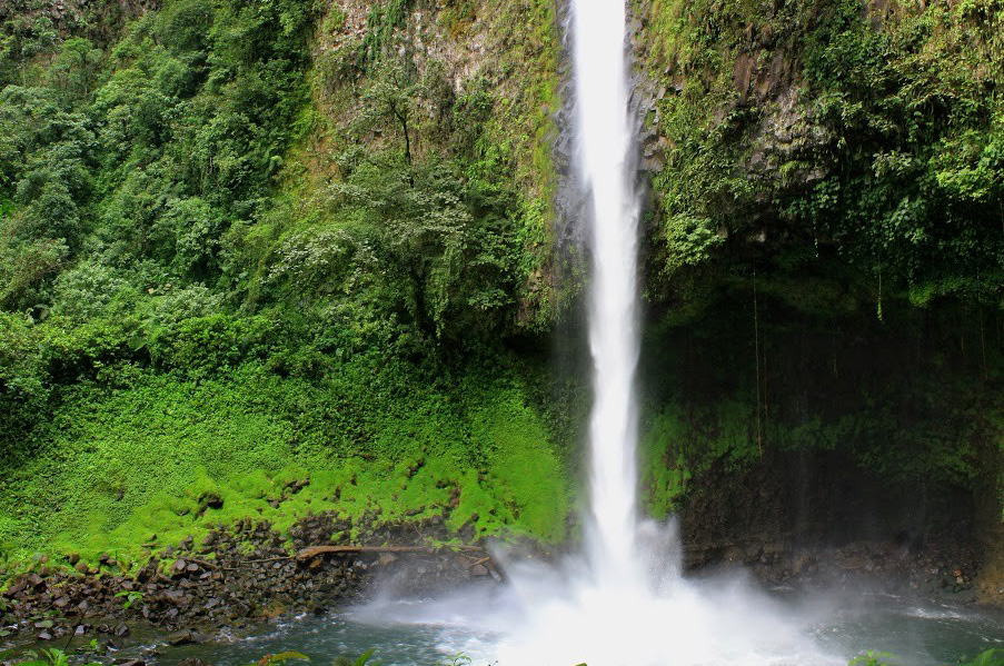
[[[1000,3],[643,4],[668,289],[758,267],[853,284],[879,317],[897,297],[1000,308]]]

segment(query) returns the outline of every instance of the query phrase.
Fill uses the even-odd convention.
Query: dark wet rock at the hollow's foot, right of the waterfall
[[[857,585],[971,602],[984,564],[972,498],[897,488],[836,455],[773,454],[710,469],[682,510],[688,568],[743,566],[769,583]]]

